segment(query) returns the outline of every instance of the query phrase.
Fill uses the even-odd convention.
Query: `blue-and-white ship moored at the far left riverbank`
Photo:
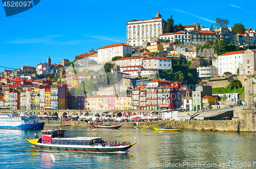
[[[0,129],[39,130],[44,129],[44,122],[39,122],[36,115],[19,115],[1,112]]]

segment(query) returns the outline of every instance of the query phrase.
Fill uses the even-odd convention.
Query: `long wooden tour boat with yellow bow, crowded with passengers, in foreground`
[[[125,151],[137,143],[125,146],[104,146],[102,137],[66,137],[65,131],[64,129],[42,130],[41,138],[35,133],[34,139],[28,137],[26,139],[39,149],[100,153]]]

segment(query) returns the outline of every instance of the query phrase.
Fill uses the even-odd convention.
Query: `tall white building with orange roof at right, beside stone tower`
[[[230,72],[232,74],[237,74],[237,69],[240,64],[243,64],[243,52],[232,51],[226,52],[218,56],[219,63],[219,76],[224,75],[224,72]]]

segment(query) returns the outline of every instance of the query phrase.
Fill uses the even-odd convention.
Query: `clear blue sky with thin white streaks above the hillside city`
[[[32,9],[6,17],[0,7],[0,66],[36,66],[50,56],[52,63],[73,61],[75,55],[99,47],[126,42],[126,22],[154,18],[159,11],[175,24],[195,20],[215,25],[217,17],[228,19],[229,26],[241,22],[256,29],[254,1],[87,1],[41,0]],[[0,68],[2,72],[4,69]]]

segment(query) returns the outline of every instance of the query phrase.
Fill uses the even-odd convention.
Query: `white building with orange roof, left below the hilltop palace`
[[[113,57],[125,57],[126,53],[132,54],[132,47],[124,43],[106,45],[98,48],[98,63],[104,64],[112,61]]]

